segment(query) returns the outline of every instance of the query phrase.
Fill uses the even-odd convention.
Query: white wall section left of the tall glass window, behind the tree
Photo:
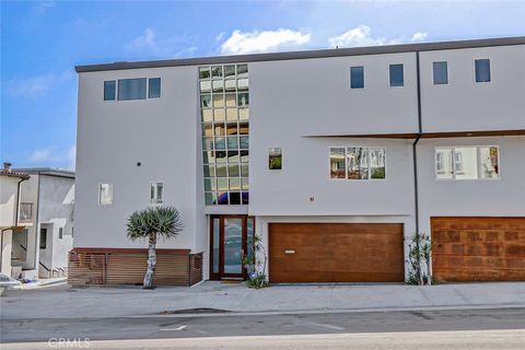
[[[162,79],[161,98],[104,102],[104,81]],[[203,248],[205,225],[197,69],[174,67],[81,73],[77,140],[75,247],[144,248],[126,237],[126,220],[150,206],[150,183],[164,182],[164,205],[184,221],[160,248]],[[141,166],[137,166],[141,162]],[[97,187],[114,184],[98,206]],[[199,210],[199,211],[197,211]]]

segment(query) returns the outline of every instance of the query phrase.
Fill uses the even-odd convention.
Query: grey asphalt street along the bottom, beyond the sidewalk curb
[[[211,339],[217,337],[221,337],[220,339],[224,341],[229,337],[235,337],[229,341],[245,339],[248,342],[254,341],[252,337],[267,337],[264,338],[265,341],[270,341],[271,339],[285,340],[282,343],[276,343],[273,348],[277,349],[280,346],[284,348],[298,346],[304,349],[301,342],[294,343],[294,341],[304,339],[305,336],[314,335],[325,336],[325,339],[331,339],[332,337],[336,337],[334,339],[345,339],[345,337],[353,334],[353,339],[364,341],[362,348],[366,349],[368,346],[374,343],[374,337],[381,342],[388,337],[401,339],[407,334],[417,334],[418,337],[422,337],[421,339],[427,339],[424,335],[430,337],[436,331],[452,331],[462,338],[463,336],[460,337],[459,335],[468,335],[475,331],[479,337],[467,337],[470,340],[465,343],[467,346],[465,349],[468,349],[469,346],[474,346],[472,349],[477,349],[480,347],[472,341],[479,342],[479,339],[488,337],[483,343],[492,343],[491,341],[499,337],[494,335],[494,331],[502,330],[509,331],[508,337],[504,337],[504,339],[508,339],[508,342],[502,342],[499,349],[505,349],[505,346],[509,346],[509,349],[525,348],[525,308],[287,315],[235,315],[235,313],[217,315],[174,314],[109,318],[84,318],[79,315],[78,318],[2,319],[1,341],[3,342],[2,349],[37,349],[37,345],[30,342],[42,342],[42,346],[49,348],[47,343],[49,339],[68,339],[70,341],[89,339],[90,349],[93,349],[97,346],[97,340],[140,339],[140,341],[131,343],[143,343],[143,349],[149,349],[149,345],[143,342],[147,339],[171,339],[170,342],[165,343],[170,347],[174,341],[173,339],[191,338],[196,340],[191,346],[196,346],[196,349],[202,346],[202,349],[205,349],[207,343],[208,348],[211,345],[213,345],[212,348],[219,346],[220,342],[210,342]],[[362,336],[363,334],[368,334],[368,336]],[[386,337],[384,334],[390,336]],[[282,338],[281,336],[291,337]],[[201,339],[198,340],[198,338]],[[409,337],[407,339],[412,338]],[[207,339],[210,339],[210,341]],[[324,338],[318,338],[311,345],[313,347],[315,343],[318,346],[323,345],[324,342],[319,339]],[[433,341],[436,347],[440,345],[440,340],[442,346],[445,346],[446,341],[448,341],[443,337],[435,337]],[[184,341],[187,342],[188,340]],[[341,341],[343,345],[345,341]],[[125,342],[105,342],[105,346],[114,346],[117,347],[115,349],[119,349],[118,347],[121,343]],[[254,342],[254,345],[257,343],[259,342]],[[521,347],[513,348],[513,343]],[[104,345],[104,342],[98,345]],[[186,345],[190,346],[190,343]],[[243,345],[246,346],[247,343],[241,341],[229,345],[234,349],[237,345],[242,348]],[[388,342],[385,345],[388,345]],[[101,349],[105,349],[105,346],[101,347]],[[162,342],[153,343],[152,349],[161,346]],[[462,343],[455,346],[460,347]],[[334,347],[337,348],[338,343],[334,343]],[[133,348],[131,347],[130,349]],[[396,348],[393,347],[392,349]]]

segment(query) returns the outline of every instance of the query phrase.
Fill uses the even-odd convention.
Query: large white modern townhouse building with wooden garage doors
[[[175,206],[158,283],[525,280],[525,37],[79,66],[73,283],[140,283],[128,215]]]

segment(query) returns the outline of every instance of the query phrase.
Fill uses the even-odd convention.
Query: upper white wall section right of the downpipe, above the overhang
[[[475,59],[490,59],[490,82],[476,83]],[[448,84],[434,85],[432,62],[448,62]],[[423,130],[525,128],[525,45],[420,54]]]

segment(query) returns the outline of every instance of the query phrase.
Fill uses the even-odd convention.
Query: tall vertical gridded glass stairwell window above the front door
[[[248,66],[205,66],[198,74],[206,205],[247,205]]]

